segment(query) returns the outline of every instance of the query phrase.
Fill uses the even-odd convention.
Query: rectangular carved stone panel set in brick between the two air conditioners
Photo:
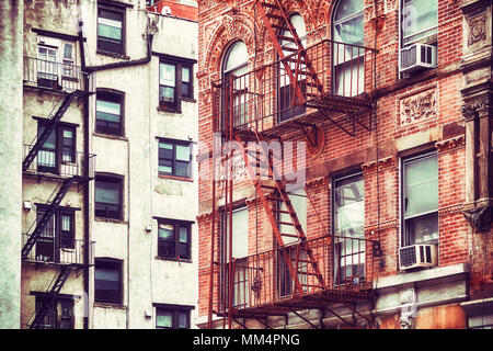
[[[400,101],[401,126],[436,116],[436,89]]]

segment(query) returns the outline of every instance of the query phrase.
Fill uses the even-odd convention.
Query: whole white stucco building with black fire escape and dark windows
[[[19,208],[1,216],[0,249],[19,247],[2,262],[16,287],[1,291],[5,327],[195,327],[198,26],[146,4],[12,4],[23,53],[4,59],[23,81],[1,79],[22,123],[2,148],[23,155],[9,159],[16,196],[1,189]]]

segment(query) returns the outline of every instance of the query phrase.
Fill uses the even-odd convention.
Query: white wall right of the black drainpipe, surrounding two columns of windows
[[[125,14],[126,58],[98,53],[96,2],[84,3],[88,65],[145,58],[148,23],[154,23],[152,52],[196,59],[197,23],[137,11],[142,3],[145,1],[133,1],[134,8],[127,9]],[[177,26],[180,31],[175,30]],[[197,141],[197,104],[182,102],[181,113],[158,111],[157,56],[145,65],[96,71],[94,79],[96,88],[125,94],[124,135],[110,137],[92,132],[90,135],[91,152],[98,155],[96,172],[114,173],[124,179],[123,220],[95,218],[94,208],[90,210],[91,235],[98,242],[95,257],[123,261],[123,303],[119,306],[95,303],[91,309],[91,327],[153,329],[156,308],[152,304],[195,306],[198,298],[196,226],[192,229],[191,262],[165,261],[157,258],[156,219],[194,222],[197,215],[195,151],[192,158],[195,181],[163,179],[158,174],[158,137]],[[194,81],[196,93],[198,88]],[[95,97],[90,98],[90,131],[94,131],[95,101]],[[93,204],[93,199],[90,203]],[[195,315],[196,309],[191,314],[192,326]]]

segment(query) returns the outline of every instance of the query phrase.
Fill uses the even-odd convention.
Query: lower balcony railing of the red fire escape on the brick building
[[[228,310],[228,292],[232,293],[233,309],[250,309],[257,315],[263,307],[289,306],[297,298],[314,295],[342,303],[368,298],[377,273],[374,244],[364,238],[324,236],[217,264],[215,310],[217,314]],[[316,261],[307,258],[308,250]],[[297,270],[301,293],[294,286],[288,259]],[[232,281],[228,280],[230,264]],[[318,272],[322,273],[326,286],[320,285]]]

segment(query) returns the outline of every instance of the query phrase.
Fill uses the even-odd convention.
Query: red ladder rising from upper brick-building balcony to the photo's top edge
[[[318,97],[323,93],[323,84],[320,82],[316,68],[308,57],[303,44],[296,33],[289,14],[282,0],[274,0],[273,3],[256,1],[256,9],[262,19],[267,35],[286,70],[286,75],[293,83],[294,97],[298,99],[298,104],[303,104],[307,97]],[[282,35],[284,31],[289,31],[291,36]],[[295,47],[283,46],[282,42],[291,42]],[[291,54],[287,55],[286,52]],[[294,65],[293,65],[294,64]],[[301,88],[306,88],[303,92]],[[310,91],[309,91],[310,90]],[[314,91],[313,91],[314,90]],[[295,104],[295,103],[294,103]]]

